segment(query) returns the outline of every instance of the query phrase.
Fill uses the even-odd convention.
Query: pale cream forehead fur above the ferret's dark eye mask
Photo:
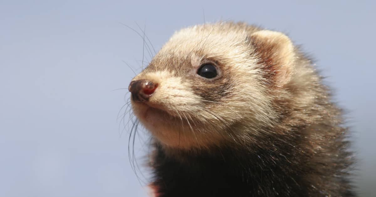
[[[162,47],[160,54],[173,52],[175,55],[198,53],[197,55],[233,58],[233,55],[244,52],[246,36],[258,28],[244,23],[214,23],[188,27],[175,32]],[[224,50],[231,47],[227,52]],[[233,48],[239,47],[238,50]],[[158,57],[156,57],[158,58]]]

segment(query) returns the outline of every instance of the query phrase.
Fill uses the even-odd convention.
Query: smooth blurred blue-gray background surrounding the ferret
[[[140,71],[143,40],[120,23],[146,24],[158,50],[174,31],[203,23],[203,10],[208,22],[243,20],[286,32],[317,60],[349,112],[360,159],[356,181],[362,196],[372,196],[375,7],[371,1],[2,0],[0,196],[146,196],[128,160],[129,131],[120,136],[118,129],[127,90],[112,91],[127,88],[134,76],[126,63]],[[139,161],[146,150],[140,143]]]

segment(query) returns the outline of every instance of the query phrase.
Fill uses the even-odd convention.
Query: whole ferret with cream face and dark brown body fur
[[[184,28],[129,84],[158,197],[356,196],[342,110],[285,34]]]

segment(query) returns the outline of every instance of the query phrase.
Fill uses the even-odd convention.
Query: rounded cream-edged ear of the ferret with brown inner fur
[[[252,45],[252,55],[265,71],[265,78],[284,86],[294,67],[294,46],[290,38],[280,32],[262,30],[251,34],[247,41]]]

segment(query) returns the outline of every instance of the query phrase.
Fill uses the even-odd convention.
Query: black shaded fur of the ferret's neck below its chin
[[[166,154],[164,149],[157,147],[154,159],[153,185],[161,197],[274,196],[278,192],[307,196],[302,188],[308,186],[296,176],[295,170],[299,170],[299,166],[273,151],[222,147]],[[260,191],[264,193],[256,195]]]

